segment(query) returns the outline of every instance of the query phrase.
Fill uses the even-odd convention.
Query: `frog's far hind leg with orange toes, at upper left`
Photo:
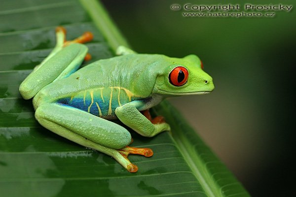
[[[69,76],[86,57],[88,48],[80,43],[90,41],[92,34],[84,33],[72,41],[66,41],[65,32],[64,28],[57,28],[55,48],[21,83],[19,90],[24,99],[33,98],[44,86]]]

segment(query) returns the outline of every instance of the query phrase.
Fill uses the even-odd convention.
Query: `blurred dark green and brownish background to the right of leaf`
[[[295,157],[295,8],[269,11],[276,13],[272,18],[183,17],[182,11],[170,9],[172,4],[188,2],[221,4],[103,0],[139,53],[201,58],[214,78],[215,91],[170,100],[251,195],[296,196],[291,162]],[[222,4],[228,3],[243,6],[246,1]]]

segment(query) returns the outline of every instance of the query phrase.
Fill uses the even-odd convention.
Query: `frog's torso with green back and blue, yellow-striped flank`
[[[100,60],[45,86],[33,103],[37,108],[43,102],[59,102],[112,119],[116,107],[151,97],[156,76],[172,63],[169,60],[147,54]]]

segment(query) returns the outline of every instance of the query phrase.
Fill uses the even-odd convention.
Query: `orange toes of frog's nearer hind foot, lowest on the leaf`
[[[135,147],[130,147],[127,146],[125,148],[117,150],[124,158],[127,160],[129,163],[130,161],[127,159],[127,156],[129,154],[138,154],[138,155],[144,155],[145,157],[151,157],[153,155],[153,151],[149,148],[135,148]],[[128,164],[127,165],[127,170],[129,172],[137,172],[138,171],[138,166],[135,164]]]

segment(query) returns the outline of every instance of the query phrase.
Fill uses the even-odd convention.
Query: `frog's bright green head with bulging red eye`
[[[214,90],[213,79],[203,71],[202,62],[197,56],[170,58],[169,62],[169,65],[159,69],[153,93],[181,96],[206,94]]]

